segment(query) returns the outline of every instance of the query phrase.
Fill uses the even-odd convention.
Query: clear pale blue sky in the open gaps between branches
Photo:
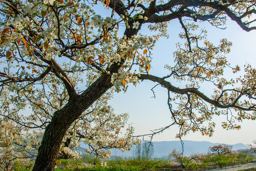
[[[220,39],[227,38],[233,43],[231,52],[227,54],[227,60],[232,66],[237,64],[243,68],[245,64],[250,64],[256,67],[256,30],[246,32],[238,25],[228,20],[226,29],[218,29],[210,26],[207,23],[199,23],[201,27],[207,29],[208,40],[218,45]],[[159,38],[152,52],[152,69],[149,74],[155,76],[166,76],[167,71],[164,69],[165,64],[173,63],[173,52],[176,50],[176,43],[180,41],[178,34],[182,31],[178,21],[171,21],[168,26],[170,38]],[[152,35],[144,26],[140,30],[144,35]],[[154,34],[154,33],[153,33]],[[225,75],[232,77],[234,75]],[[172,123],[169,109],[167,106],[167,90],[161,87],[155,89],[156,98],[152,98],[153,94],[150,90],[154,83],[150,81],[140,82],[136,87],[129,85],[126,93],[115,93],[113,99],[110,100],[110,105],[115,109],[115,113],[128,113],[129,121],[135,127],[134,135],[150,133],[150,130],[155,130]],[[200,87],[202,90],[207,90],[207,84]],[[242,128],[238,130],[226,131],[221,127],[221,122],[225,121],[224,117],[213,118],[216,122],[215,133],[212,137],[202,136],[201,133],[189,133],[183,137],[183,140],[191,141],[209,141],[226,144],[244,143],[251,144],[256,140],[256,121],[243,121]],[[152,141],[175,141],[178,128],[176,126],[155,135]],[[148,140],[148,137],[145,137]]]

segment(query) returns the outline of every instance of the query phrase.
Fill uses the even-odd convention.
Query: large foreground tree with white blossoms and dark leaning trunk
[[[118,137],[127,114],[113,114],[107,102],[113,91],[126,91],[128,83],[139,80],[156,82],[168,92],[173,123],[151,135],[177,124],[177,137],[190,131],[211,136],[213,115],[227,115],[226,129],[239,129],[235,121],[256,118],[256,70],[247,65],[243,77],[222,77],[226,66],[234,74],[240,70],[226,60],[231,42],[223,38],[215,46],[207,40],[207,31],[195,24],[207,21],[225,28],[230,18],[245,31],[254,30],[249,26],[255,22],[254,0],[0,3],[0,115],[24,134],[31,129],[43,132],[32,144],[38,147],[33,171],[53,171],[58,158],[77,155],[72,149],[79,141],[102,157],[109,155],[104,149],[127,150],[136,143],[131,126]],[[93,8],[108,9],[108,17]],[[168,22],[174,19],[184,29],[179,37],[186,42],[177,44],[174,64],[165,66],[169,75],[150,75],[152,48],[159,37],[168,37]],[[147,24],[157,35],[138,34]],[[124,26],[123,36],[118,36]],[[174,80],[182,86],[174,86]],[[200,90],[202,82],[216,87],[211,96]]]

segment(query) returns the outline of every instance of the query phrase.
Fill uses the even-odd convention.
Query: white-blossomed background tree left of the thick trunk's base
[[[11,170],[16,159],[36,156],[37,139],[42,133],[21,133],[20,125],[15,125],[6,118],[0,118],[0,128],[0,167],[2,170]]]

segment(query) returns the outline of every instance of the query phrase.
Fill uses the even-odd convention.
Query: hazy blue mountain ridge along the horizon
[[[213,142],[197,142],[197,141],[187,141],[184,140],[184,155],[189,156],[193,153],[207,153],[207,150],[210,146],[218,145],[221,143],[213,143]],[[167,156],[173,149],[177,151],[181,150],[181,143],[180,141],[163,141],[163,142],[152,142],[154,147],[154,156],[155,157],[164,157]],[[85,147],[85,145],[81,145],[80,147]],[[245,144],[237,143],[233,144],[232,150],[236,151],[239,149],[247,149],[249,148]],[[118,149],[113,149],[111,156],[123,156],[123,157],[130,157],[133,155],[133,151],[135,146],[132,147],[131,151],[121,152]]]

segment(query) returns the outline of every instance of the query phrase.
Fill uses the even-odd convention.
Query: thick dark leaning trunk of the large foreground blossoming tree
[[[130,28],[125,31],[127,38],[137,33],[138,29]],[[115,63],[108,68],[108,71],[117,73],[120,67],[119,63]],[[54,171],[62,139],[69,126],[111,86],[111,75],[101,75],[81,95],[70,96],[69,102],[54,113],[45,129],[32,171]]]

